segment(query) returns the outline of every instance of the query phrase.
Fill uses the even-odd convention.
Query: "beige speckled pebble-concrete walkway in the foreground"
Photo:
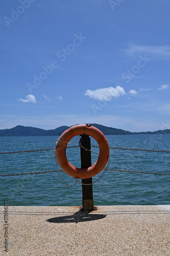
[[[170,255],[170,205],[8,206],[8,252],[0,210],[3,256]]]

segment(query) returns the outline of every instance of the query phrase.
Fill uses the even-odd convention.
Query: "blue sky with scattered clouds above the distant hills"
[[[4,0],[0,129],[170,129],[169,0]]]

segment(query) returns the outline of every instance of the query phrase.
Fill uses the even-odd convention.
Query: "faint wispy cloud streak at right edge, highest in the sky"
[[[129,45],[126,49],[129,54],[134,54],[136,52],[145,52],[159,56],[170,56],[170,46],[141,46],[134,45],[133,43]]]

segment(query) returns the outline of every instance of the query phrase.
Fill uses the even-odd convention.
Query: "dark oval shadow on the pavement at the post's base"
[[[60,216],[60,217],[55,217],[46,220],[47,222],[51,223],[78,223],[78,222],[85,222],[85,221],[94,221],[94,220],[100,220],[104,219],[106,215],[104,214],[90,214],[91,210],[79,210],[75,212],[73,215],[67,215],[67,216]]]

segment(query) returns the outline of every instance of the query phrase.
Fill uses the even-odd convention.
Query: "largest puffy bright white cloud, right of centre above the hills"
[[[92,91],[86,90],[84,95],[89,96],[90,98],[93,98],[93,99],[110,101],[112,97],[117,98],[124,94],[126,94],[124,88],[120,86],[116,86],[116,88],[108,87],[108,88],[101,88],[101,89],[96,89]]]

